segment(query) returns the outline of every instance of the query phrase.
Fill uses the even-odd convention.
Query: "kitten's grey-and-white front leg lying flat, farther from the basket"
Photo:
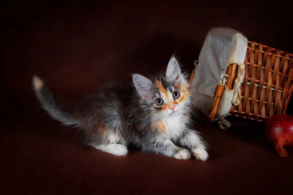
[[[144,140],[142,150],[145,152],[152,152],[161,154],[176,159],[190,159],[191,154],[188,150],[176,146],[171,140],[166,138],[150,138]]]

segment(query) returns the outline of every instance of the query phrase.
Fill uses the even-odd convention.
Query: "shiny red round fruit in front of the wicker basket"
[[[270,117],[265,124],[265,134],[280,156],[288,156],[283,147],[293,146],[293,116],[279,114]]]

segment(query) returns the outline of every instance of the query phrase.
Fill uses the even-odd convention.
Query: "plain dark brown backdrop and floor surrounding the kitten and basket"
[[[292,147],[288,157],[279,157],[262,125],[234,124],[223,131],[199,124],[210,145],[207,162],[134,149],[114,157],[84,147],[80,132],[48,118],[30,85],[39,75],[55,95],[72,100],[106,80],[156,72],[173,53],[191,71],[214,26],[293,52],[290,6],[57,2],[1,6],[1,194],[290,193]]]

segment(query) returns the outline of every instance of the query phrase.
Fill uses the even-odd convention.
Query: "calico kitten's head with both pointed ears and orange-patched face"
[[[134,75],[133,82],[141,97],[142,108],[149,110],[154,117],[178,116],[188,111],[191,103],[188,80],[175,58],[170,59],[166,75],[152,81]]]

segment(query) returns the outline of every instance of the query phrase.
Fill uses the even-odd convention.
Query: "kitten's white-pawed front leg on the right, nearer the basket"
[[[206,151],[206,145],[203,138],[198,135],[198,132],[187,129],[179,139],[179,143],[182,147],[188,148],[196,159],[202,161],[208,159],[209,155]]]

